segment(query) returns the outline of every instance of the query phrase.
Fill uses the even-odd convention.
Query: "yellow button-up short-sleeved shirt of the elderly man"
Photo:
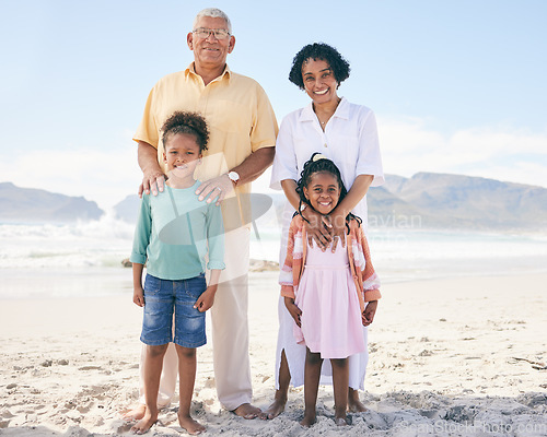
[[[230,71],[226,66],[223,73],[206,86],[201,76],[196,74],[193,62],[186,70],[167,74],[154,85],[133,137],[135,141],[158,149],[158,162],[164,172],[161,128],[177,110],[201,114],[209,127],[208,150],[196,173],[199,180],[222,175],[258,149],[276,144],[276,116],[268,96],[256,81]],[[237,201],[228,199],[223,202],[226,231],[241,226],[241,221],[249,223],[249,197],[241,196],[249,192],[251,184],[237,186]]]

